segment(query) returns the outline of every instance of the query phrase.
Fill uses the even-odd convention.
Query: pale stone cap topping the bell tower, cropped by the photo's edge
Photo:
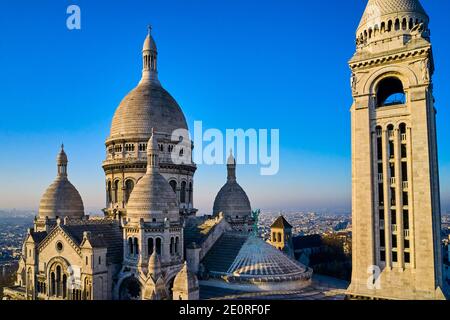
[[[385,16],[404,13],[427,15],[419,0],[369,0],[358,29]]]

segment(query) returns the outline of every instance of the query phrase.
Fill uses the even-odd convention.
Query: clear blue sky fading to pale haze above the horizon
[[[431,17],[444,209],[450,209],[450,1]],[[82,29],[66,28],[81,8]],[[366,0],[2,0],[0,207],[37,208],[62,141],[85,207],[105,202],[104,141],[141,74],[153,25],[159,77],[190,127],[280,129],[280,172],[238,168],[252,206],[350,210],[350,72]],[[210,212],[223,166],[199,166],[194,197]]]

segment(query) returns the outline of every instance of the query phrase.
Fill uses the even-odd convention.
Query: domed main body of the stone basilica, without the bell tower
[[[197,216],[193,144],[174,139],[188,126],[158,80],[150,30],[142,63],[142,78],[117,108],[105,144],[104,217],[85,214],[61,146],[57,176],[42,196],[6,299],[197,300],[200,282],[219,291],[307,287],[312,270],[257,236],[233,154],[212,215]]]

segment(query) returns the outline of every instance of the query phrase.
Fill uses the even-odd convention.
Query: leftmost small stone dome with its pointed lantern
[[[80,193],[67,179],[67,155],[64,146],[56,158],[58,176],[41,198],[39,216],[56,219],[84,216],[84,205]]]

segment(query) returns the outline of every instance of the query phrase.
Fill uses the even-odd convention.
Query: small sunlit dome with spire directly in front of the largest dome
[[[178,220],[179,208],[175,192],[159,173],[158,144],[152,134],[147,145],[147,173],[138,181],[127,205],[127,216],[144,221]]]

